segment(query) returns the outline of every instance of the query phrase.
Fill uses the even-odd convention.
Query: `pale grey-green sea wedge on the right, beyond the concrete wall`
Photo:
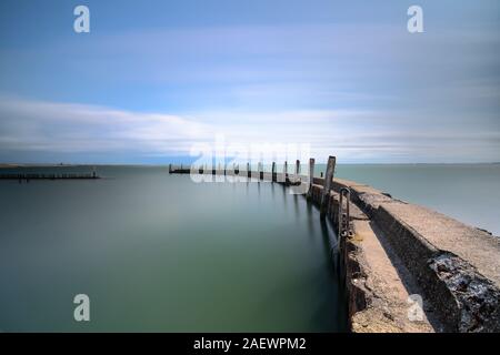
[[[336,176],[500,235],[500,164],[339,165]]]

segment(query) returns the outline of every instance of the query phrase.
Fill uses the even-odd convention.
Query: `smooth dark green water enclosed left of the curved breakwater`
[[[303,197],[164,168],[99,173],[0,181],[1,331],[346,329],[334,234]],[[76,294],[89,323],[73,321]]]

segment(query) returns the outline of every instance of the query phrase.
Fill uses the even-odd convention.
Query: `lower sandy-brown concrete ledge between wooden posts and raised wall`
[[[410,295],[422,292],[416,280],[387,243],[383,233],[369,221],[354,221],[358,257],[364,271],[367,308],[354,313],[351,328],[358,333],[431,333],[441,331],[430,303],[423,300],[421,318],[410,318]],[[356,278],[354,278],[356,280]],[[360,282],[360,281],[358,281]]]

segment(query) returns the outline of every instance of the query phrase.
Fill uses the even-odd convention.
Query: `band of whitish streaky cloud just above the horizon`
[[[186,156],[197,143],[214,144],[218,135],[224,136],[227,144],[246,146],[309,144],[319,160],[337,152],[344,162],[379,161],[379,156],[404,161],[431,152],[433,161],[453,161],[458,153],[470,161],[482,161],[484,156],[493,159],[496,153],[478,156],[478,151],[500,146],[499,132],[409,131],[396,124],[391,114],[361,110],[233,111],[179,116],[2,98],[0,115],[9,118],[0,121],[2,152],[44,153],[54,159],[68,153],[130,154],[133,159]],[[462,150],[457,150],[458,145]]]

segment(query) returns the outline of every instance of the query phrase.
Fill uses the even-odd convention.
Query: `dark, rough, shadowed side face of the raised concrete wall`
[[[406,202],[368,185],[334,181],[334,190],[343,186],[351,189],[352,202],[388,236],[398,256],[438,310],[446,331],[500,332],[500,290],[491,280],[458,255],[432,245],[384,207],[388,203]]]

